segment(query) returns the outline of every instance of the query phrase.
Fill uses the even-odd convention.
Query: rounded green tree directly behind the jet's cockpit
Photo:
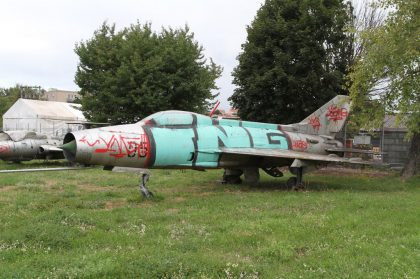
[[[136,122],[168,109],[205,112],[221,68],[204,57],[186,26],[153,32],[139,23],[117,32],[104,23],[76,45],[75,82],[94,121]]]

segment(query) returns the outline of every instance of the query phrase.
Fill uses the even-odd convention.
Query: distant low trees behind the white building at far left
[[[3,116],[19,98],[41,100],[44,93],[45,90],[40,86],[22,86],[17,84],[10,88],[0,88],[0,115]],[[1,127],[3,127],[3,117],[0,119]]]

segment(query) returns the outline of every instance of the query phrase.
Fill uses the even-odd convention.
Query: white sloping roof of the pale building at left
[[[36,118],[86,120],[81,107],[80,104],[19,99],[6,114],[11,117],[14,111],[20,114],[19,111],[25,110],[28,114],[27,110],[30,110]]]

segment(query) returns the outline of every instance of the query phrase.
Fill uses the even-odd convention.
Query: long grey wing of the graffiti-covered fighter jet
[[[373,164],[363,161],[360,158],[343,158],[334,154],[321,155],[307,152],[299,152],[289,149],[264,149],[264,148],[221,148],[222,154],[243,155],[250,157],[271,157],[282,159],[300,159],[314,162],[351,163],[351,164]]]

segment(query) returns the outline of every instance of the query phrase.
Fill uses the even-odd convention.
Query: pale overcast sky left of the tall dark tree
[[[207,57],[223,66],[217,80],[221,107],[233,93],[231,72],[249,25],[264,0],[1,0],[0,87],[40,85],[78,90],[75,43],[89,39],[106,20],[117,28],[151,22],[188,24]]]

